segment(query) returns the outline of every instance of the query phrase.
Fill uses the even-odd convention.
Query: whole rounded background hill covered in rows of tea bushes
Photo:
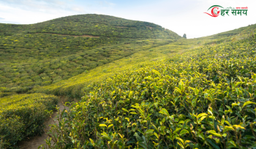
[[[154,23],[108,15],[0,26],[0,96],[67,80],[181,38]]]

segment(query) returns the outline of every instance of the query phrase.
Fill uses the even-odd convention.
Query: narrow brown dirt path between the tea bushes
[[[59,110],[61,110],[61,111],[64,109],[68,110],[68,107],[64,107],[64,105],[61,103],[59,103],[58,106],[59,106]],[[49,125],[54,124],[54,123],[59,124],[58,121],[54,121],[56,115],[57,115],[57,112],[53,112],[52,117],[48,121],[45,122],[45,125],[46,125],[45,133],[42,134],[42,136],[37,136],[37,137],[33,137],[31,139],[24,140],[19,145],[20,149],[37,149],[40,145],[45,144],[45,140],[48,137],[48,134],[46,134],[46,133],[50,129]]]

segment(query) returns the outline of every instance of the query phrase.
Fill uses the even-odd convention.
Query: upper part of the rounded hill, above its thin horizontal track
[[[127,20],[108,15],[72,15],[31,25],[0,23],[0,36],[14,34],[67,34],[100,37],[178,39],[178,34],[154,23]]]

